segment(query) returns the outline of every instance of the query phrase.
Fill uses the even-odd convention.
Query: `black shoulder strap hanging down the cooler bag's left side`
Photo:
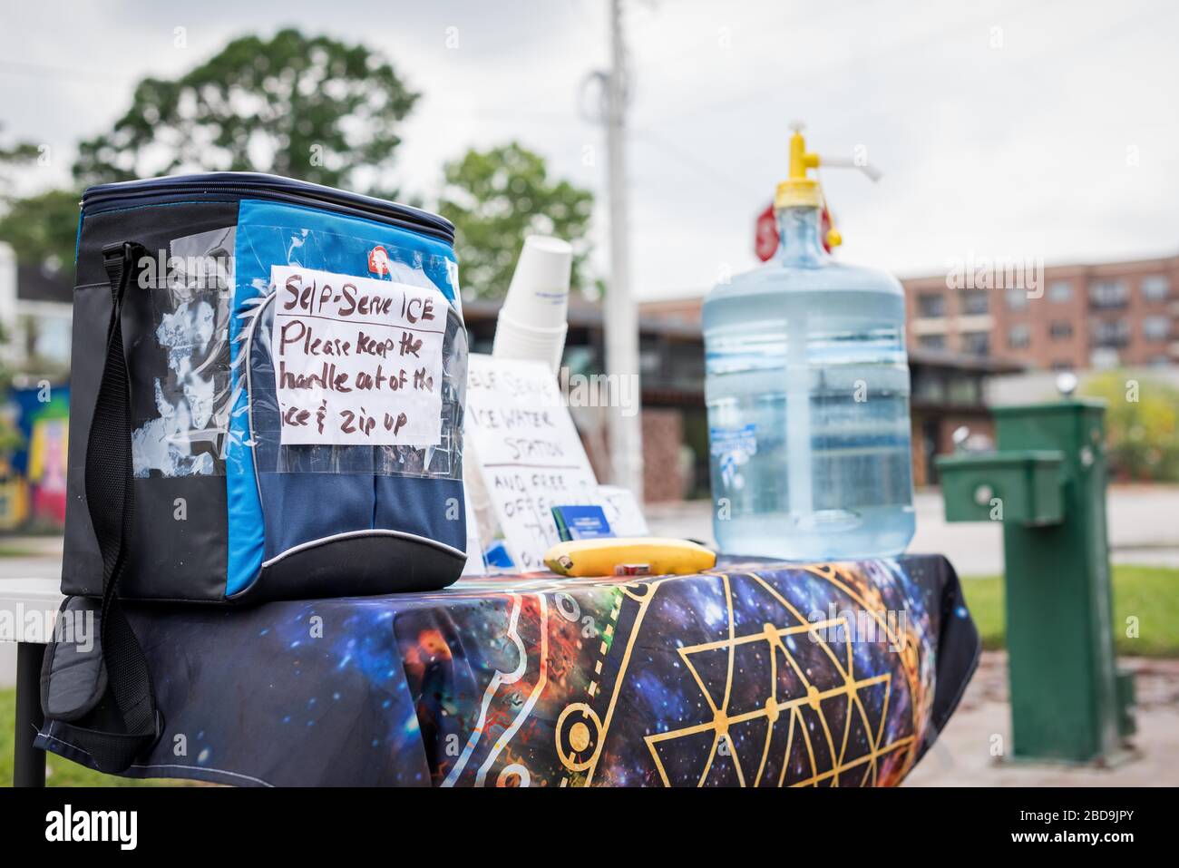
[[[106,772],[125,771],[163,732],[151,673],[139,640],[119,603],[119,579],[127,568],[134,488],[131,463],[131,384],[123,348],[123,302],[147,251],[124,242],[103,248],[111,280],[111,323],[106,361],[86,441],[86,504],[103,553],[103,604],[99,622],[110,693],[123,718],[121,731],[72,725],[77,745]]]

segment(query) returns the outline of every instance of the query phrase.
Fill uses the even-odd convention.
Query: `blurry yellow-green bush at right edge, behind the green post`
[[[1179,480],[1179,390],[1113,370],[1091,377],[1081,392],[1108,407],[1106,445],[1115,476]]]

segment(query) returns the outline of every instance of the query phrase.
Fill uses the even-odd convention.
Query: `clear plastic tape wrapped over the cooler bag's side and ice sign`
[[[344,272],[341,250],[356,249],[368,254],[362,268],[354,263]],[[275,261],[275,250],[285,254]],[[237,259],[244,257],[268,277],[238,285],[235,309]],[[272,277],[291,269],[314,276],[318,282],[309,278],[308,285],[318,289],[328,283],[325,275],[336,277],[341,285],[335,289],[344,288],[348,297],[336,291],[341,301],[334,308],[328,302],[314,310],[298,304],[284,310],[283,288]],[[467,334],[453,259],[369,238],[251,225],[176,238],[144,274],[153,322],[151,337],[141,338],[150,346],[140,347],[138,357],[150,357],[156,370],[151,400],[140,399],[133,413],[137,476],[224,475],[226,453],[241,447],[252,453],[259,474],[462,478]],[[423,298],[428,323],[399,315],[401,302]],[[361,310],[365,316],[357,315]],[[288,317],[279,328],[307,335],[288,341],[281,366],[275,364],[276,315]],[[324,354],[328,343],[331,351]],[[322,374],[324,364],[330,376]],[[303,439],[321,442],[289,442],[283,435],[284,425],[298,419],[283,400],[296,388],[310,408],[304,421],[315,428]],[[397,442],[397,408],[415,392],[427,399],[416,405],[422,413],[436,412],[436,434],[429,442]],[[325,419],[329,412],[332,417]],[[335,440],[351,433],[355,442],[332,442],[325,422],[348,427],[336,430]],[[371,427],[367,435],[365,425]]]

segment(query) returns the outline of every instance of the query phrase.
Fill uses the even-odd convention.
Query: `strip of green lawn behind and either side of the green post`
[[[982,634],[982,646],[1003,647],[1003,583],[999,576],[963,578],[966,604]],[[1179,657],[1179,570],[1113,567],[1114,640],[1118,653]],[[1138,637],[1126,636],[1126,618],[1138,618]]]

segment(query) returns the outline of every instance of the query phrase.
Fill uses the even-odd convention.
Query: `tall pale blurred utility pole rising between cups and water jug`
[[[610,453],[614,485],[630,488],[643,502],[643,420],[638,388],[618,388],[624,380],[639,382],[639,317],[631,297],[631,263],[626,213],[626,45],[623,39],[623,0],[610,2],[610,74],[606,77],[606,160],[610,173],[610,283],[606,289],[606,374],[611,394]],[[620,395],[638,402],[620,406]],[[624,409],[627,413],[624,415]]]

